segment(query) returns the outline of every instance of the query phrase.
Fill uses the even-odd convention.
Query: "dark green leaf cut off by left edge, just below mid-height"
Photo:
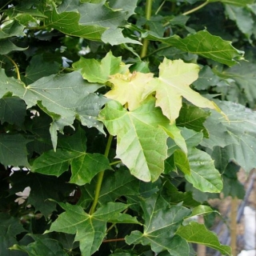
[[[30,140],[21,134],[0,134],[0,162],[5,166],[27,166],[26,144]]]

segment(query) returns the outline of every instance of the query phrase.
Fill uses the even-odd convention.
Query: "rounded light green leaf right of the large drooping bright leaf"
[[[188,182],[203,192],[218,193],[222,190],[221,174],[214,167],[214,161],[209,154],[198,149],[189,152],[191,174],[185,175]]]

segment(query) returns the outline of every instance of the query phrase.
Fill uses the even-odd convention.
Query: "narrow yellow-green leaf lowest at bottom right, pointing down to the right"
[[[220,251],[224,255],[231,255],[230,246],[222,246],[218,242],[216,234],[206,230],[206,227],[198,222],[190,222],[186,226],[180,226],[176,234],[185,238],[187,242],[203,244]]]

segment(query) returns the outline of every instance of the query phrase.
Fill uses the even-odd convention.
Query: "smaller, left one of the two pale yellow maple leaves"
[[[114,74],[109,81],[114,86],[105,96],[120,102],[122,105],[127,103],[129,110],[135,110],[141,106],[142,101],[147,97],[146,89],[149,90],[152,87],[150,82],[154,81],[154,78],[152,73],[134,72]]]

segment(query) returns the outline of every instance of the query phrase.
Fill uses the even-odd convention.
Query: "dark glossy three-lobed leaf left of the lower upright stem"
[[[108,159],[102,154],[86,153],[86,134],[78,131],[60,142],[59,148],[43,153],[33,162],[32,171],[59,176],[71,168],[70,182],[82,186],[90,183],[96,174],[111,169]]]

